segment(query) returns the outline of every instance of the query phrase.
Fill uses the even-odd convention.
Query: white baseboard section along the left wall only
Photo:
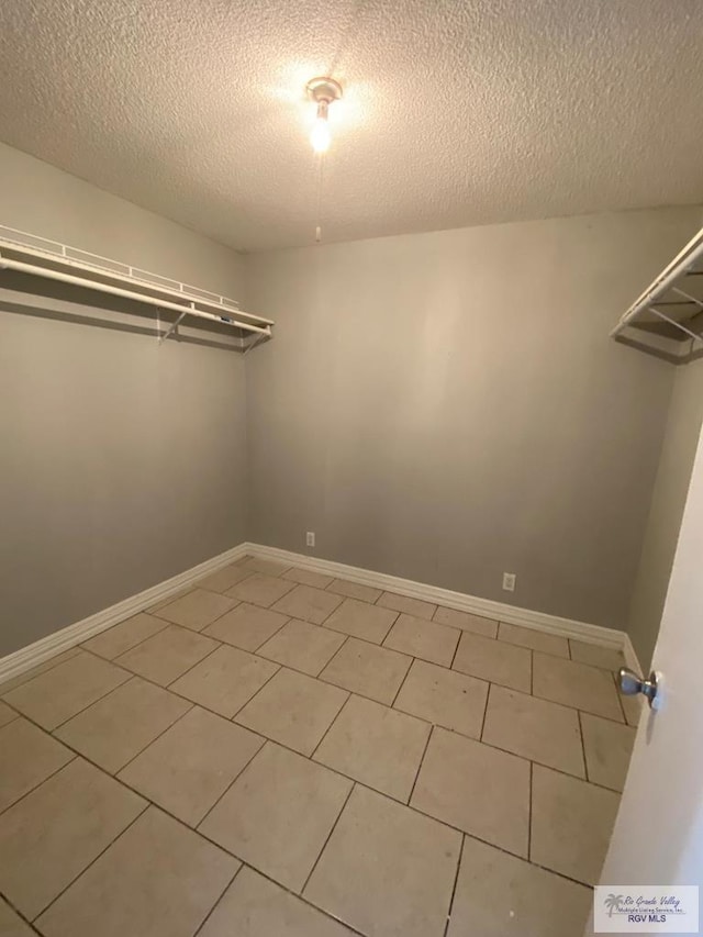
[[[55,657],[83,640],[88,640],[88,638],[104,632],[118,622],[136,615],[137,612],[143,612],[144,609],[150,607],[163,599],[168,599],[169,595],[180,592],[198,579],[202,579],[210,572],[216,572],[245,555],[246,544],[239,544],[239,546],[212,557],[212,559],[193,566],[192,569],[187,569],[185,572],[171,577],[171,579],[166,579],[136,595],[131,595],[129,599],[118,602],[116,605],[96,612],[94,615],[90,615],[81,622],[75,622],[72,625],[60,628],[26,647],[20,648],[20,650],[15,650],[0,659],[0,683],[36,667],[37,663],[43,663],[48,658]]]

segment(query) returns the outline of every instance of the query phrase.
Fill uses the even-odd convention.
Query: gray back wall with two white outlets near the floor
[[[673,368],[609,331],[700,210],[252,255],[249,538],[624,627]],[[517,573],[514,595],[502,572]]]

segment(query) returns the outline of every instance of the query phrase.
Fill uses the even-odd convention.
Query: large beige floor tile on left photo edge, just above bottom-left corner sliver
[[[145,805],[76,758],[0,816],[0,891],[34,918]]]

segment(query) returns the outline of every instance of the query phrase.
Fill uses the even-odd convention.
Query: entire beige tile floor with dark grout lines
[[[0,687],[0,934],[581,937],[620,665],[239,560]]]

